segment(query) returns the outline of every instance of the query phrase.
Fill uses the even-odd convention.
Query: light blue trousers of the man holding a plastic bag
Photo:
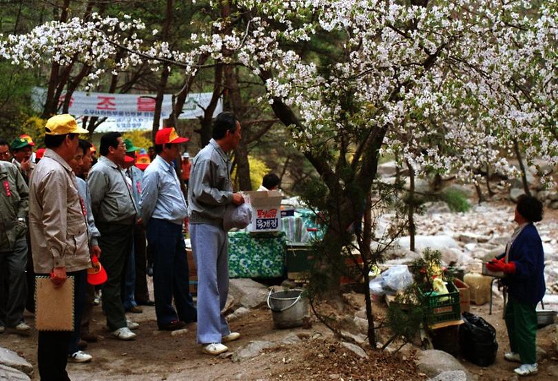
[[[231,333],[221,314],[229,293],[227,233],[209,224],[191,223],[189,230],[198,269],[198,343],[221,342]]]

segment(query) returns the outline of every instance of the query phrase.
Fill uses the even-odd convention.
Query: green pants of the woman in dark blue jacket
[[[537,362],[537,304],[521,303],[512,296],[506,305],[506,327],[510,338],[510,349],[519,353],[521,364]]]

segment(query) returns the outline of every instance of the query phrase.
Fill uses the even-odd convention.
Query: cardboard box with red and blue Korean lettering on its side
[[[252,206],[252,222],[248,231],[281,231],[281,193],[273,191],[245,192],[245,199]]]

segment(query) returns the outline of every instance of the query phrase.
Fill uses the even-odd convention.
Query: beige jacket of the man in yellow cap
[[[31,177],[29,225],[35,273],[49,274],[54,267],[66,271],[90,267],[87,224],[76,176],[49,149]]]

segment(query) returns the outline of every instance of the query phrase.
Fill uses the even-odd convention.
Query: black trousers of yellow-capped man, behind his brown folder
[[[49,274],[43,274],[49,276]],[[82,278],[87,277],[87,270],[73,271],[66,274],[74,277],[74,285],[79,285]],[[78,299],[80,287],[74,287],[74,300]],[[74,302],[74,328],[76,325],[76,307]],[[56,306],[53,306],[56,308]],[[68,346],[72,339],[72,331],[39,331],[39,345],[37,350],[37,362],[39,363],[39,376],[41,381],[65,381],[70,380],[66,372],[68,363]]]

